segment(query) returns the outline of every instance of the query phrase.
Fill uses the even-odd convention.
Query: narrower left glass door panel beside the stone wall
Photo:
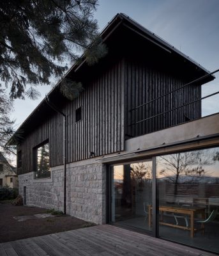
[[[114,164],[110,176],[111,221],[151,231],[152,161]]]

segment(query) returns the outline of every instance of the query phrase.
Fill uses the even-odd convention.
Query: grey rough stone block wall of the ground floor
[[[105,166],[91,161],[71,163],[66,170],[66,213],[96,224],[105,223]],[[63,166],[52,168],[50,179],[34,179],[34,172],[19,175],[19,193],[26,204],[63,211]]]

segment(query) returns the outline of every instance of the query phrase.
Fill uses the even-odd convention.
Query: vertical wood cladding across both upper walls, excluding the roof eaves
[[[124,150],[124,138],[181,124],[186,121],[186,117],[191,120],[200,118],[200,102],[195,102],[132,125],[149,116],[199,99],[200,86],[187,86],[183,90],[130,111],[140,104],[179,88],[188,82],[188,79],[134,60],[121,60],[109,66],[105,71],[100,71],[96,78],[84,84],[84,91],[77,99],[72,102],[66,100],[61,108],[66,114],[68,163],[119,152]],[[75,122],[75,110],[80,107],[82,120]],[[50,145],[50,166],[63,164],[63,117],[52,112],[52,115],[48,115],[47,120],[39,122],[38,126],[37,122],[38,120],[35,122],[36,128],[29,132],[20,146],[20,173],[33,170],[33,148],[47,139]]]

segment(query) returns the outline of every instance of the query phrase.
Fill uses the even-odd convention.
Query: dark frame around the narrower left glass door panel
[[[158,223],[158,218],[159,215],[157,214],[157,209],[158,209],[158,198],[157,198],[157,191],[156,191],[156,157],[149,157],[149,158],[144,158],[144,159],[127,159],[127,161],[121,161],[121,162],[116,162],[116,163],[110,163],[107,164],[107,204],[106,204],[106,222],[112,225],[117,225],[116,223],[112,222],[112,166],[115,165],[121,165],[121,164],[131,164],[131,163],[137,163],[137,162],[149,162],[151,161],[152,163],[152,230],[144,230],[144,233],[148,234],[149,236],[153,237],[158,237],[158,228],[159,225]],[[155,206],[155,207],[154,207]],[[127,227],[128,229],[132,229],[138,232],[143,232],[139,228],[133,228],[133,227]]]

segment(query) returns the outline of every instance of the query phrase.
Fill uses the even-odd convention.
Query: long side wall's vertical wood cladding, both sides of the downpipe
[[[66,114],[67,161],[79,161],[124,150],[123,61],[118,61],[87,84],[61,111]],[[54,102],[56,104],[56,102]],[[48,106],[46,106],[49,108]],[[75,110],[82,109],[82,120],[75,123]],[[63,164],[63,117],[53,112],[47,120],[35,121],[20,145],[22,170],[33,171],[33,148],[49,139],[50,166]],[[90,156],[93,152],[94,155]]]

